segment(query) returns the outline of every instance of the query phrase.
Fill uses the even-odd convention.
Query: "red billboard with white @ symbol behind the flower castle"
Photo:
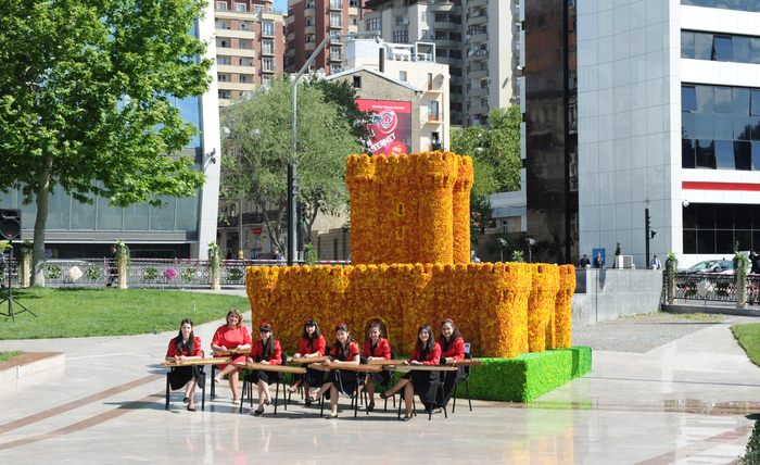
[[[411,151],[411,102],[356,100],[363,112],[377,113],[369,125],[372,138],[369,149],[375,155],[409,153]]]

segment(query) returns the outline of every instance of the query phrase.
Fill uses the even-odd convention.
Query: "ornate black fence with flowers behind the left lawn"
[[[131,259],[127,285],[138,288],[210,287],[211,267],[207,260],[191,259]],[[350,262],[325,261],[325,265],[345,265]],[[11,282],[20,284],[18,261],[5,262],[11,267]],[[284,266],[282,260],[223,260],[219,285],[244,286],[249,266]],[[3,268],[0,282],[4,285],[8,271]],[[45,264],[46,286],[104,287],[116,284],[116,264],[111,259],[49,259]]]

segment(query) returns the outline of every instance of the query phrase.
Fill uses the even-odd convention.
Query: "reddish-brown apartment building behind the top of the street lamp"
[[[365,0],[288,0],[286,68],[297,73],[326,37],[357,33]],[[328,43],[313,68],[325,74],[343,68],[343,43]]]

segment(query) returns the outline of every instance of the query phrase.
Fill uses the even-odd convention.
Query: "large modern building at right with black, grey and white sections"
[[[760,248],[756,3],[527,2],[531,237],[639,268]]]

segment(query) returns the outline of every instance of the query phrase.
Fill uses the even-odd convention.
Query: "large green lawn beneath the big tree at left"
[[[13,297],[38,317],[22,313],[14,324],[0,316],[0,340],[176,331],[183,318],[200,325],[224,318],[230,309],[243,314],[251,309],[245,298],[179,290],[29,288],[13,289]],[[7,313],[3,305],[0,312]]]

